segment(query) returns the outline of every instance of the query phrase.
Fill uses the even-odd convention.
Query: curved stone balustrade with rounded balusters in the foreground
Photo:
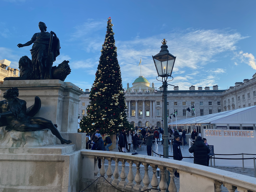
[[[177,192],[174,181],[174,172],[180,173],[180,189],[179,192],[221,192],[222,184],[225,191],[239,192],[256,191],[256,178],[240,175],[233,172],[206,167],[203,165],[192,164],[173,159],[165,159],[154,156],[132,155],[119,152],[108,151],[92,151],[82,150],[82,178],[80,182],[80,190],[84,190],[96,179],[88,190],[85,191],[166,191]],[[101,169],[98,168],[98,159],[101,159]],[[106,171],[104,163],[108,160],[108,169]],[[111,167],[112,160],[115,161],[115,170]],[[121,173],[118,164],[122,163]],[[129,163],[128,174],[125,170],[125,163]],[[132,171],[133,164],[136,165],[136,174]],[[144,169],[142,166],[144,166]],[[149,170],[152,170],[150,173]],[[152,167],[152,168],[151,168]],[[161,170],[160,182],[157,179],[157,168]],[[143,178],[140,171],[144,171]],[[169,177],[170,184],[167,185],[166,178]],[[99,174],[100,173],[100,174]],[[107,173],[107,176],[105,174]],[[150,178],[149,175],[152,175]],[[114,177],[114,178],[113,178]],[[128,180],[128,181],[127,181]],[[135,181],[135,183],[134,183]],[[112,184],[107,185],[106,182]],[[109,186],[109,187],[106,187]]]

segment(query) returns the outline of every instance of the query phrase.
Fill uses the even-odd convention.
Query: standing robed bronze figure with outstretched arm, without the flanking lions
[[[32,56],[32,64],[35,79],[52,79],[52,62],[56,60],[56,57],[58,55],[60,55],[60,41],[54,32],[46,32],[47,27],[44,22],[39,22],[38,27],[41,31],[40,33],[35,33],[30,41],[28,41],[25,44],[18,44],[17,46],[20,48],[24,46],[29,46],[32,43],[34,43],[30,52]],[[51,34],[54,36],[52,39],[51,47],[52,55],[49,55],[49,57],[48,49]]]

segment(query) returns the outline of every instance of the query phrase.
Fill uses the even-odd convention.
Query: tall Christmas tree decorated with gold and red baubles
[[[105,42],[102,45],[95,81],[90,92],[90,105],[87,116],[80,121],[81,132],[116,134],[119,130],[131,129],[126,119],[121,71],[117,61],[117,47],[110,17]]]

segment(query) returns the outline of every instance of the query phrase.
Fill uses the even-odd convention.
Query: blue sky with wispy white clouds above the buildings
[[[91,88],[104,43],[107,18],[111,17],[123,86],[142,74],[156,87],[152,55],[166,39],[176,56],[170,84],[188,90],[191,85],[219,89],[252,78],[256,72],[256,1],[33,1],[0,0],[0,60],[18,68],[20,57],[31,58],[28,42],[47,31],[60,39],[60,55],[54,65],[69,60],[71,74],[65,81],[83,90]],[[168,90],[173,90],[172,86]]]

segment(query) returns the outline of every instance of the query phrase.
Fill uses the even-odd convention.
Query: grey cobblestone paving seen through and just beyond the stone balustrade
[[[114,172],[114,171],[115,171],[115,166],[112,165],[111,167],[112,167],[112,170],[113,170],[113,172]],[[245,168],[245,169],[244,169],[245,172],[242,172],[243,169],[240,168],[240,167],[220,167],[220,166],[216,166],[215,168],[254,177],[254,169]],[[106,171],[108,170],[108,164],[105,164],[105,169],[106,169]],[[122,166],[119,165],[119,166],[118,166],[118,169],[119,169],[119,173],[121,173],[121,171],[122,171]],[[134,174],[134,176],[135,176],[135,175],[136,175],[136,171],[137,171],[137,169],[136,169],[135,166],[132,167],[132,171],[133,171],[133,174]],[[126,172],[126,174],[128,175],[128,173],[129,173],[129,166],[127,166],[127,165],[125,166],[125,172]],[[140,166],[140,174],[141,174],[141,177],[142,177],[142,179],[143,179],[144,174],[145,174],[144,166],[143,166],[143,165]],[[150,180],[151,180],[151,179],[152,179],[152,176],[153,176],[153,169],[152,169],[152,167],[150,167],[150,166],[148,167],[148,175],[149,175],[149,178],[150,178]],[[100,173],[98,174],[98,176],[100,176]],[[242,175],[241,175],[241,176],[242,176]],[[107,174],[105,175],[105,177],[106,177],[106,178],[108,177]],[[112,178],[113,178],[113,176],[112,176]],[[121,180],[121,178],[119,178],[119,179]],[[127,178],[126,178],[126,181],[128,182]],[[177,191],[179,191],[179,188],[180,188],[180,180],[174,178],[174,181],[175,181],[175,185],[176,185],[176,187],[177,187]],[[158,178],[158,182],[160,182],[160,178]],[[134,183],[135,183],[135,181],[134,181]],[[135,183],[135,184],[136,184],[136,183]],[[141,182],[141,184],[143,185],[143,182]],[[152,186],[149,184],[149,187],[151,188]],[[222,186],[222,191],[223,191],[223,192],[228,192],[227,188],[225,188],[225,187],[223,187],[223,186]],[[237,191],[237,190],[236,190],[236,191]]]

